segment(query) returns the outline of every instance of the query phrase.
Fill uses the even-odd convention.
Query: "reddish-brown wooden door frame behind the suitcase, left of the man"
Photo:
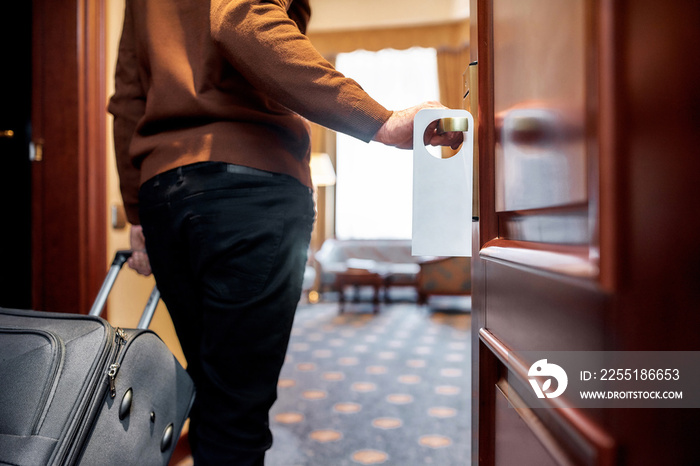
[[[106,271],[104,0],[33,0],[32,306],[85,313]]]

